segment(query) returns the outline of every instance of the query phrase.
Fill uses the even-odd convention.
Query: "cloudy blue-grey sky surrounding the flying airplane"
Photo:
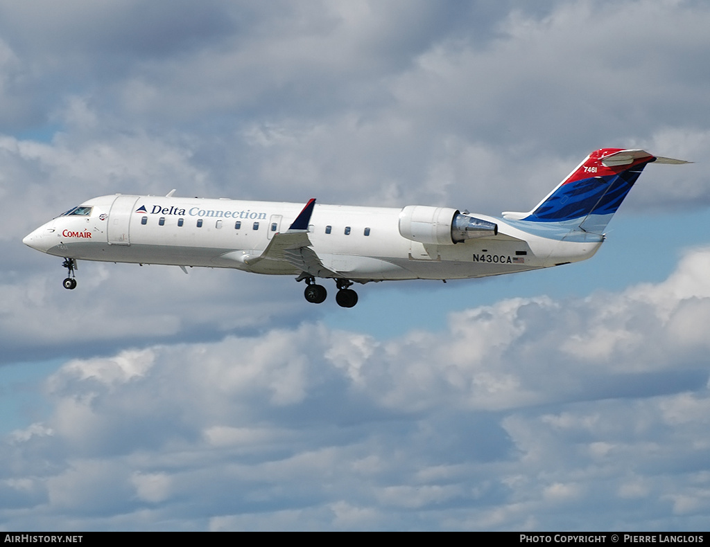
[[[0,0],[0,530],[710,528],[710,5]],[[383,282],[61,259],[91,197],[527,211],[585,262]],[[329,287],[333,294],[334,287]]]

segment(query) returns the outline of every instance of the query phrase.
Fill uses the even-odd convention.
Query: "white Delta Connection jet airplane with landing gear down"
[[[689,163],[645,150],[589,154],[537,206],[501,217],[450,207],[403,208],[115,194],[84,201],[23,243],[64,258],[66,289],[77,260],[226,267],[305,281],[320,304],[335,281],[336,302],[358,301],[354,283],[452,280],[559,266],[591,258],[604,228],[651,162]],[[286,228],[285,230],[283,228]]]

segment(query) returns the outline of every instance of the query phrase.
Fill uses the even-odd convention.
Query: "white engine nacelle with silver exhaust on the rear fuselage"
[[[411,241],[454,245],[466,239],[496,236],[498,225],[450,207],[408,205],[400,212],[399,231]]]

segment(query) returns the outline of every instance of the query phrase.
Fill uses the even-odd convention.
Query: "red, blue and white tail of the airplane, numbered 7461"
[[[503,218],[519,221],[516,226],[525,223],[528,228],[542,228],[559,238],[571,231],[601,236],[643,168],[651,162],[689,163],[654,156],[645,150],[601,148],[589,154],[532,211],[506,211]]]

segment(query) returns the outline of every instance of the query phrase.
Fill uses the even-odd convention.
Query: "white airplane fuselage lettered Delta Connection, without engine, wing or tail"
[[[88,216],[58,216],[24,243],[76,260],[302,274],[286,260],[249,262],[289,228],[303,204],[119,194],[82,205],[91,207]],[[308,240],[322,265],[337,274],[324,277],[368,282],[501,275],[584,260],[603,241],[559,241],[477,214],[496,223],[498,235],[450,245],[420,243],[400,234],[402,211],[316,204]]]

